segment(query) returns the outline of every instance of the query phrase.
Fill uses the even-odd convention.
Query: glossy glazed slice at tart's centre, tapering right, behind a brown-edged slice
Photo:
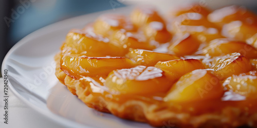
[[[158,61],[179,59],[179,57],[172,54],[158,53],[142,49],[134,49],[128,52],[126,57],[135,60],[139,65],[143,66],[154,66]]]

